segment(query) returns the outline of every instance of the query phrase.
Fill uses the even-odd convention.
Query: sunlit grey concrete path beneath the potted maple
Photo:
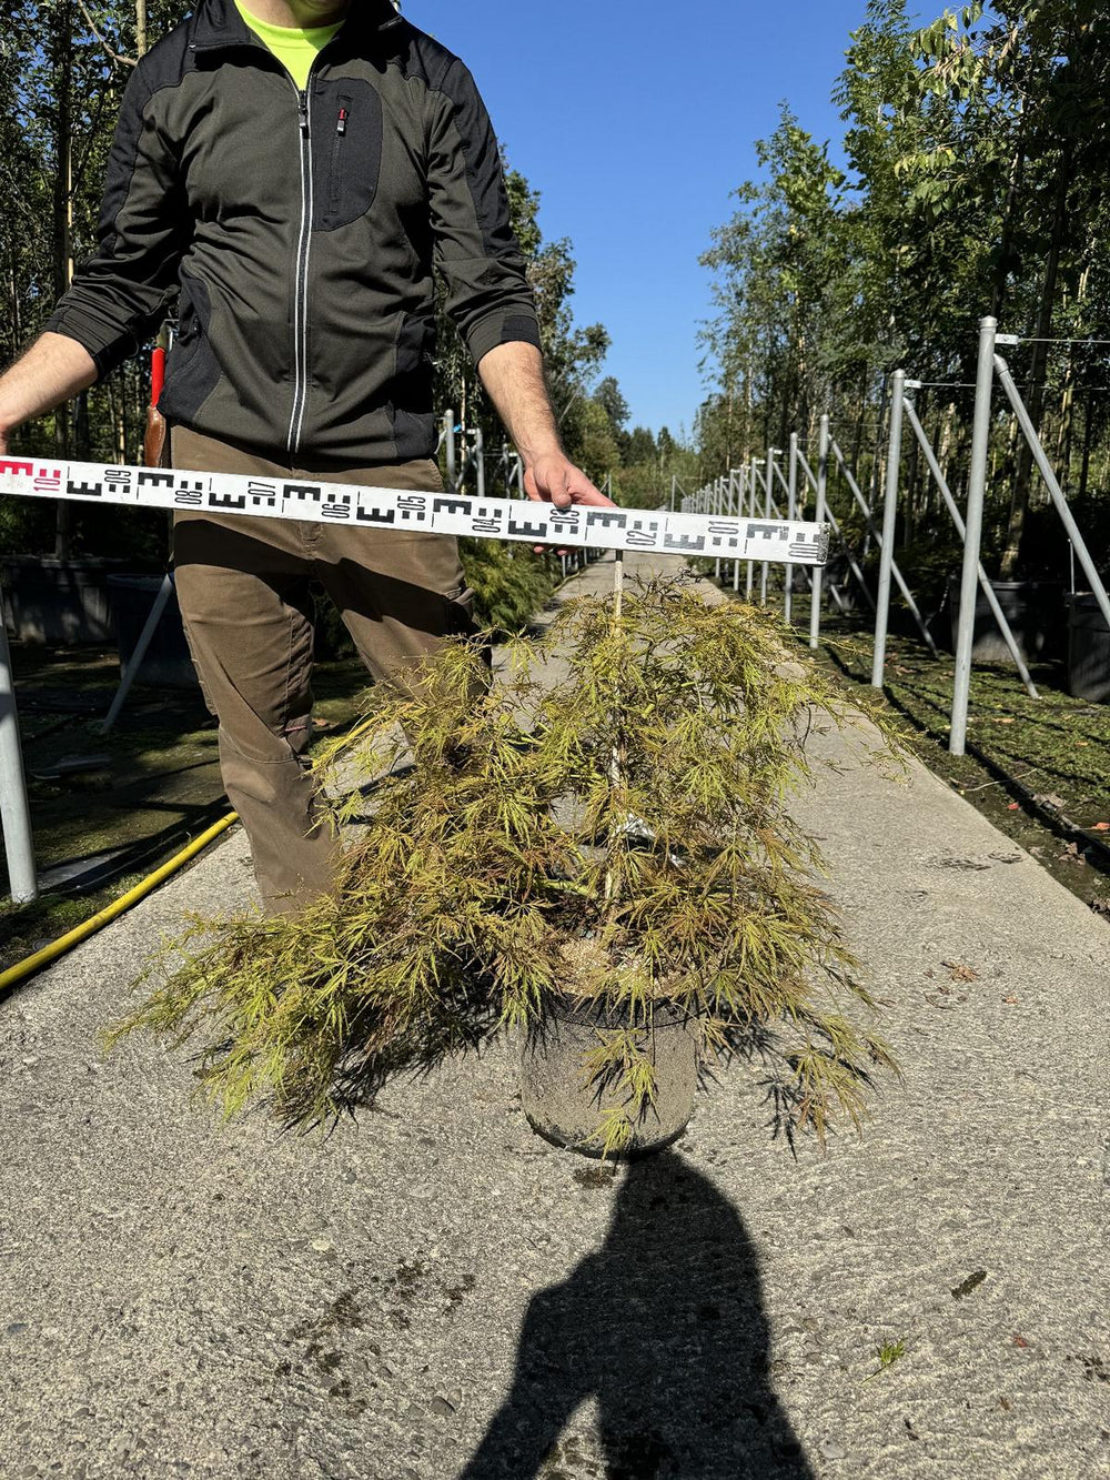
[[[252,897],[238,833],[0,1003],[0,1476],[1110,1476],[1107,925],[918,765],[799,814],[904,1066],[826,1156],[744,1067],[614,1175],[511,1045],[323,1143],[105,1063],[157,937]]]

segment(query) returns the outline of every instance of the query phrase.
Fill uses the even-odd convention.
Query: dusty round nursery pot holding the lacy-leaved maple
[[[564,998],[527,1036],[521,1060],[521,1103],[545,1141],[601,1157],[598,1126],[608,1109],[628,1104],[628,1086],[589,1083],[586,1055],[599,1035],[628,1030],[620,1009]],[[697,1020],[669,1005],[656,1005],[653,1026],[636,1029],[656,1069],[656,1100],[635,1122],[622,1157],[647,1156],[676,1141],[694,1113],[697,1092]]]

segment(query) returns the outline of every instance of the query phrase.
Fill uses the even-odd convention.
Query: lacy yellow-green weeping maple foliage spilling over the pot
[[[858,1126],[892,1060],[848,1015],[870,1018],[872,998],[789,810],[810,733],[855,725],[858,700],[787,657],[773,617],[682,580],[616,610],[567,602],[543,641],[502,653],[488,693],[463,642],[411,693],[374,690],[357,753],[337,741],[318,762],[342,776],[352,838],[336,894],[292,918],[194,921],[112,1039],[195,1043],[226,1111],[260,1100],[327,1123],[391,1073],[586,999],[613,1027],[585,1073],[626,1088],[599,1125],[616,1150],[651,1104],[666,1005],[707,1055],[774,1066],[793,1123],[823,1137],[839,1110]]]

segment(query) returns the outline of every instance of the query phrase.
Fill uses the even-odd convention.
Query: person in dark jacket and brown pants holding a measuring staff
[[[392,0],[200,0],[135,68],[98,249],[0,377],[12,431],[133,355],[179,300],[173,466],[440,491],[434,271],[525,491],[610,503],[565,456],[500,151],[469,71]],[[323,583],[376,681],[472,632],[453,537],[175,515],[186,638],[269,910],[334,882],[305,768]]]

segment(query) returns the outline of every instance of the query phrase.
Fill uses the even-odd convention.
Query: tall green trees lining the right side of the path
[[[919,410],[959,485],[983,314],[1042,340],[1110,337],[1110,18],[1101,0],[998,0],[919,27],[906,0],[870,0],[845,55],[833,98],[847,170],[784,110],[759,147],[759,181],[739,189],[739,210],[704,258],[716,312],[696,438],[702,475],[783,445],[793,429],[814,441],[829,411],[875,487],[885,377],[903,364],[956,383],[922,392]],[[1104,351],[1042,343],[1018,355],[1066,481],[1080,500],[1104,493]],[[987,549],[1002,574],[1032,573],[1039,494],[1003,417],[993,471]],[[901,537],[947,533],[924,465],[907,477]]]

